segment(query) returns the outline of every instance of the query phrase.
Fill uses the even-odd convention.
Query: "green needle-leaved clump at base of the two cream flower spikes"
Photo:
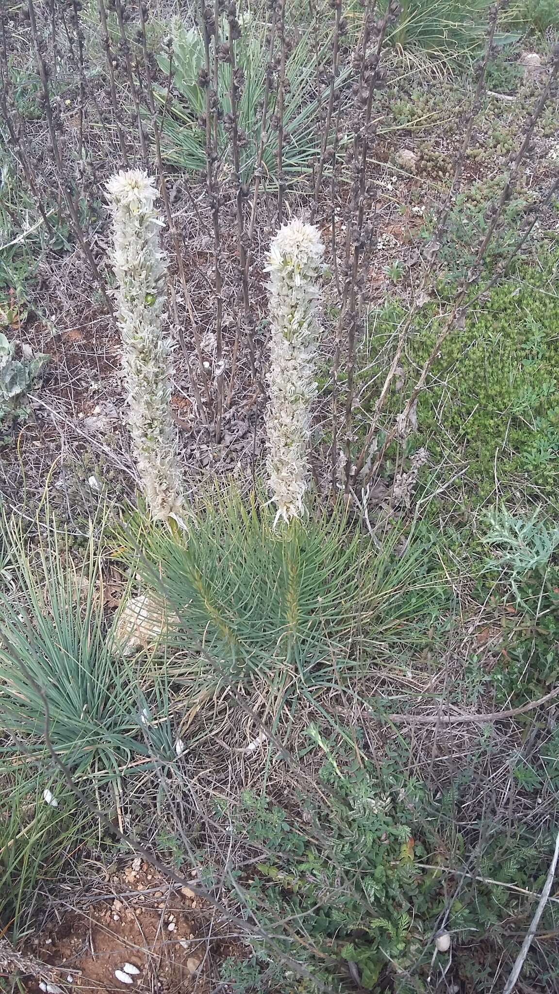
[[[235,490],[201,505],[184,537],[134,519],[123,545],[179,618],[169,651],[181,682],[206,694],[264,685],[276,716],[371,654],[421,643],[443,596],[425,547],[399,555],[396,531],[377,547],[341,507],[275,530],[273,509]]]

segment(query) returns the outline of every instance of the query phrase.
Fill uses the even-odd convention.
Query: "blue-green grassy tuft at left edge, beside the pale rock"
[[[28,542],[21,523],[3,521],[11,577],[0,591],[3,729],[39,760],[48,717],[59,757],[101,779],[118,780],[132,757],[138,769],[142,760],[172,761],[164,681],[147,664],[128,666],[115,649],[118,612],[111,618],[103,593],[104,523],[91,523],[76,560],[54,521],[44,527],[43,538]]]

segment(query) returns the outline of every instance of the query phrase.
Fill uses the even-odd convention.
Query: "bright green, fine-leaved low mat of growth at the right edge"
[[[468,311],[463,328],[444,340],[418,401],[418,433],[431,464],[463,476],[471,506],[494,492],[554,499],[559,474],[559,297],[557,256],[538,266],[520,264]],[[445,298],[448,287],[442,291]],[[439,307],[424,307],[406,348],[404,387],[393,390],[389,410],[417,379],[441,328]],[[373,357],[392,355],[387,343],[405,314],[389,304],[375,315],[366,342],[359,386],[365,411],[374,404],[384,366]],[[383,351],[384,350],[384,351]],[[388,361],[389,361],[388,359]],[[386,360],[383,360],[385,362]],[[367,384],[374,388],[367,389]]]

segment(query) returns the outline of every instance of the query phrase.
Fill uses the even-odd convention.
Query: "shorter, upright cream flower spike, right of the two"
[[[323,255],[316,228],[294,220],[280,228],[268,259],[272,345],[266,427],[277,521],[304,513]]]

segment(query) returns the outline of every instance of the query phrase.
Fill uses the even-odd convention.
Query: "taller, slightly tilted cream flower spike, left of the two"
[[[155,519],[182,521],[184,498],[171,414],[172,342],[164,330],[165,256],[153,180],[131,169],[107,184],[110,259],[122,338],[129,426],[138,473]]]

